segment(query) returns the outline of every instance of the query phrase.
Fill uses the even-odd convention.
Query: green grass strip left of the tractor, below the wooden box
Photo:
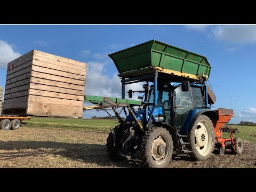
[[[109,132],[111,126],[116,126],[119,124],[117,120],[108,119],[75,119],[54,117],[32,117],[24,122],[27,123],[26,127],[51,127],[58,129],[103,132]]]

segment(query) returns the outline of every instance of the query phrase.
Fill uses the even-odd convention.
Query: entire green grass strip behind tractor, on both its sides
[[[75,118],[52,118],[52,117],[32,117],[26,120],[27,127],[51,127],[57,129],[72,129],[83,131],[102,131],[109,132],[111,126],[118,125],[117,120],[107,119],[75,119]],[[238,126],[239,133],[234,134],[234,137],[239,137],[243,141],[256,143],[256,126]],[[224,138],[228,138],[228,133],[223,133]]]

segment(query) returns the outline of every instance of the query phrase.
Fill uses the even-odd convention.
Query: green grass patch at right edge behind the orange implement
[[[231,125],[231,127],[239,130],[239,133],[233,135],[234,138],[238,137],[243,141],[256,143],[256,126]],[[229,138],[229,134],[223,133],[223,138]]]

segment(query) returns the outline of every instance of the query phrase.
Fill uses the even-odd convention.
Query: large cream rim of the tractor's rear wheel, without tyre
[[[195,145],[196,150],[202,156],[206,156],[210,153],[213,145],[213,132],[212,127],[206,120],[198,122],[195,129]]]

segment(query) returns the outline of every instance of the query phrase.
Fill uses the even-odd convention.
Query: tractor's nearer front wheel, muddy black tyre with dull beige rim
[[[172,135],[163,127],[152,127],[142,137],[142,162],[147,167],[163,168],[169,165],[173,153]]]

